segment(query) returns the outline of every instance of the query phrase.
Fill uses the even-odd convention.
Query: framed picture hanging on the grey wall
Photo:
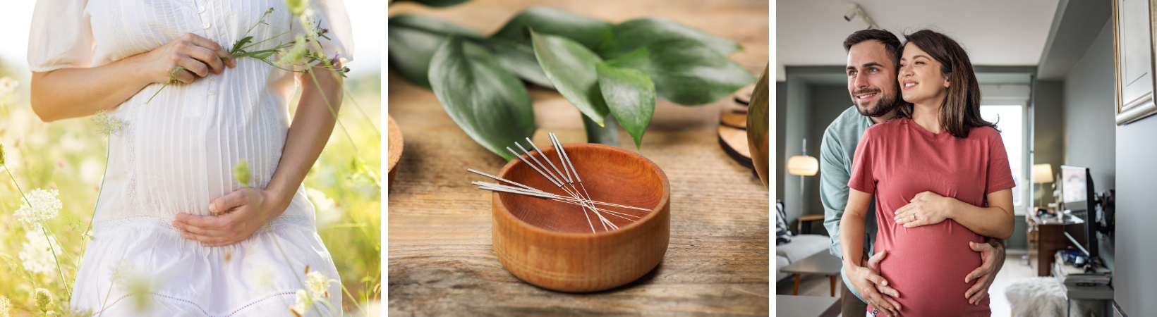
[[[1154,16],[1157,0],[1113,0],[1113,61],[1117,67],[1117,125],[1157,113]]]

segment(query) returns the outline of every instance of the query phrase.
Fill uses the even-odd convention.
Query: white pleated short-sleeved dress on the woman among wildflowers
[[[268,25],[250,32],[255,39],[300,24],[283,0],[39,0],[29,68],[96,67],[186,32],[228,50],[268,8],[274,8]],[[323,39],[325,53],[352,60],[342,1],[312,0],[311,9],[333,39]],[[290,42],[302,30],[278,39]],[[178,213],[208,215],[209,201],[243,189],[233,177],[241,160],[248,160],[256,187],[268,184],[286,142],[296,76],[242,58],[220,75],[169,84],[145,104],[161,88],[149,84],[110,111],[127,125],[109,140],[108,174],[94,239],[74,285],[74,309],[103,310],[103,316],[290,316],[307,265],[340,280],[303,187],[268,229],[234,245],[201,246],[170,224]],[[124,265],[148,278],[147,292],[113,283],[113,268]],[[329,294],[340,310],[340,285],[330,283]],[[150,304],[140,310],[134,303],[141,297],[134,296]]]

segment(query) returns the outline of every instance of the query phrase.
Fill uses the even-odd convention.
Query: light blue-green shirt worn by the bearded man
[[[840,113],[827,130],[824,130],[824,140],[819,146],[819,200],[824,204],[824,228],[827,229],[828,251],[833,256],[843,258],[840,250],[840,218],[848,206],[848,179],[852,179],[852,163],[856,157],[856,146],[860,145],[860,137],[872,125],[871,119],[860,115],[853,105]],[[875,201],[875,200],[874,200]],[[868,207],[868,218],[864,223],[864,249],[869,256],[872,252],[872,244],[876,242],[876,204]],[[843,268],[840,268],[843,273]],[[847,274],[841,274],[845,283],[848,283]],[[850,283],[856,297],[856,292]],[[861,298],[863,300],[863,298]]]

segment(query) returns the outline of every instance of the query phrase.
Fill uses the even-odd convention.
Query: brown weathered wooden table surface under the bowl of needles
[[[412,2],[390,15],[420,14],[493,34],[517,12],[543,1],[471,1],[430,9]],[[732,53],[756,75],[768,62],[767,1],[559,1],[546,3],[613,23],[662,16],[738,40]],[[389,115],[405,137],[389,189],[389,311],[397,316],[768,315],[769,194],[752,170],[720,148],[718,112],[730,103],[656,103],[635,149],[671,183],[671,239],[658,267],[611,290],[568,294],[528,285],[502,267],[491,244],[491,194],[470,185],[488,180],[506,161],[474,143],[430,90],[389,73]],[[538,131],[565,143],[584,142],[580,113],[553,90],[531,88]]]

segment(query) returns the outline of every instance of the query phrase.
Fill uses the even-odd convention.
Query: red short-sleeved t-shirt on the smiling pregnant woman
[[[1015,186],[1001,134],[975,127],[968,138],[933,134],[912,119],[894,119],[864,131],[848,186],[876,197],[879,231],[875,250],[887,250],[880,275],[900,292],[905,316],[990,316],[988,297],[968,304],[964,278],[980,267],[968,242],[983,236],[953,220],[916,228],[897,224],[896,211],[931,191],[975,206],[985,196]],[[869,311],[871,308],[869,307]]]

